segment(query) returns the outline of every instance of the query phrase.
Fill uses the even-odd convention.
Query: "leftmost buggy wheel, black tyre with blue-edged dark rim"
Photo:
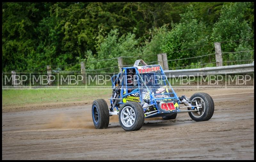
[[[92,121],[96,129],[108,128],[109,111],[104,99],[94,100],[92,103]]]

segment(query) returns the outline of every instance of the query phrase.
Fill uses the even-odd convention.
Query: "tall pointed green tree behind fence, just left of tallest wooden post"
[[[181,14],[179,24],[173,24],[172,30],[166,34],[162,41],[161,50],[167,53],[168,60],[183,59],[188,57],[201,56],[211,51],[211,46],[204,46],[208,43],[209,36],[206,33],[206,25],[196,19],[196,11],[190,5],[186,13]],[[204,46],[202,48],[195,48]],[[192,48],[191,50],[185,50]],[[169,67],[188,66],[191,62],[204,62],[208,58],[185,59],[169,61]],[[211,60],[210,60],[211,61]]]

